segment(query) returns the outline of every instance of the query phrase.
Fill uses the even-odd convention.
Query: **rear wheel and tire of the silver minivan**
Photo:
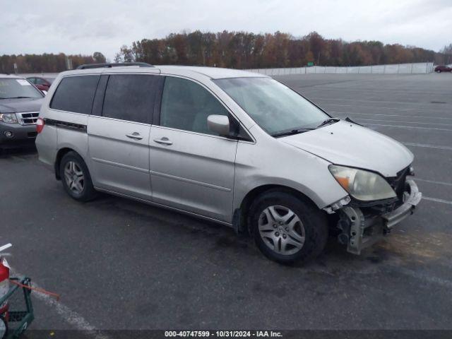
[[[90,201],[97,196],[88,167],[76,152],[66,153],[61,159],[59,175],[64,190],[77,201]]]

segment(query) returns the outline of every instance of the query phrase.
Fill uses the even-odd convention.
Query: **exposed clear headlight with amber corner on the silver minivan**
[[[340,186],[357,200],[374,201],[396,197],[396,192],[379,174],[337,165],[330,165],[328,169]]]

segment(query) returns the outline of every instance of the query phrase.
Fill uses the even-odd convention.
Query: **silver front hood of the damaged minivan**
[[[410,150],[398,141],[343,120],[280,141],[335,165],[371,169],[384,177],[396,177],[413,160]]]

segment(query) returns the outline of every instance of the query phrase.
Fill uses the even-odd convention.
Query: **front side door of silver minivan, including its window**
[[[199,83],[165,78],[160,123],[149,140],[153,201],[232,222],[237,140],[210,131],[210,114],[230,116]]]

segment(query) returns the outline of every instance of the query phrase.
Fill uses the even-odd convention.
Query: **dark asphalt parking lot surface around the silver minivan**
[[[335,117],[405,143],[424,200],[361,256],[328,242],[307,266],[232,230],[101,196],[77,203],[32,151],[0,158],[0,244],[57,303],[41,329],[452,329],[452,74],[282,76]]]

